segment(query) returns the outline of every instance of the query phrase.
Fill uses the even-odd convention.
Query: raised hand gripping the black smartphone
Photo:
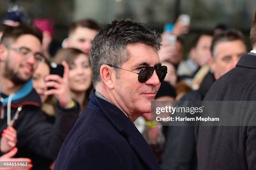
[[[64,75],[63,78],[59,75],[48,75],[45,80],[46,87],[54,87],[54,89],[47,90],[45,95],[55,95],[62,107],[68,108],[72,103],[71,92],[69,90],[69,66],[67,62],[63,61]]]

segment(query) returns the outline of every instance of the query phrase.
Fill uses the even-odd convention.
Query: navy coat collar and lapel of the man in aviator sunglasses
[[[143,165],[146,165],[148,169],[152,170],[161,169],[154,153],[149,148],[141,133],[118,107],[97,97],[94,90],[90,94],[90,106],[99,107],[103,111],[115,128],[128,141],[133,151],[138,155],[138,158],[143,161]]]

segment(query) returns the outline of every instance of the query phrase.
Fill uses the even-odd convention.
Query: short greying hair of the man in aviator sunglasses
[[[101,81],[100,67],[104,64],[121,67],[129,59],[127,45],[143,43],[155,47],[161,46],[161,35],[148,25],[137,23],[132,20],[114,20],[100,29],[92,42],[90,53],[92,66],[92,84]],[[115,68],[116,77],[119,78],[119,71]]]

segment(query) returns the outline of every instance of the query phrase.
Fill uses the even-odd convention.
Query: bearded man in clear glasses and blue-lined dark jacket
[[[54,125],[46,121],[31,80],[38,62],[44,60],[41,42],[41,33],[25,25],[3,31],[0,41],[0,156],[16,146],[16,157],[30,158],[35,169],[48,169],[77,120],[79,106],[75,103],[69,108],[71,103],[58,99]],[[16,135],[10,133],[10,129],[15,129]]]

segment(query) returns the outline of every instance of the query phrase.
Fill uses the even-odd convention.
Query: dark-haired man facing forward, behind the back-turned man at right
[[[243,34],[226,30],[213,37],[211,71],[202,80],[200,88],[184,95],[180,101],[202,101],[210,86],[221,75],[235,67],[246,53]],[[161,168],[163,170],[196,170],[197,153],[194,126],[169,126]]]

